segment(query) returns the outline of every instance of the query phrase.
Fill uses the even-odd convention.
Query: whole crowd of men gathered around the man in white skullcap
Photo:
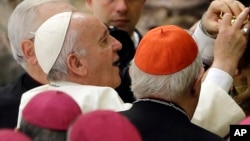
[[[228,138],[250,116],[249,2],[214,0],[190,30],[162,25],[142,36],[145,2],[87,0],[89,14],[63,0],[23,0],[8,37],[25,73],[0,88],[0,136]]]

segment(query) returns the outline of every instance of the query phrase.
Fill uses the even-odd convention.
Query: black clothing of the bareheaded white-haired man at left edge
[[[22,94],[41,85],[24,73],[12,83],[0,87],[0,128],[16,127]]]

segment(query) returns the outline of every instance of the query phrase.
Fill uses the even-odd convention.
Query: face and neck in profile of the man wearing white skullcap
[[[117,51],[122,48],[119,41],[113,38],[106,26],[93,16],[85,16],[84,22],[79,21],[80,45],[86,48],[86,55],[81,56],[85,62],[87,83],[97,86],[116,88],[121,79],[117,61]]]

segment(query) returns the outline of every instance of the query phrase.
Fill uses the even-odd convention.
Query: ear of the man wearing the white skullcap
[[[69,68],[69,71],[72,73],[78,75],[78,76],[85,76],[87,75],[87,68],[86,68],[86,62],[80,60],[79,56],[76,54],[70,54],[67,57],[67,65]]]

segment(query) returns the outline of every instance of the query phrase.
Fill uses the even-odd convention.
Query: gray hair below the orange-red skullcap
[[[192,87],[202,68],[202,60],[198,54],[195,61],[183,70],[170,75],[151,75],[140,70],[131,62],[131,89],[136,98],[177,98],[186,94]]]

